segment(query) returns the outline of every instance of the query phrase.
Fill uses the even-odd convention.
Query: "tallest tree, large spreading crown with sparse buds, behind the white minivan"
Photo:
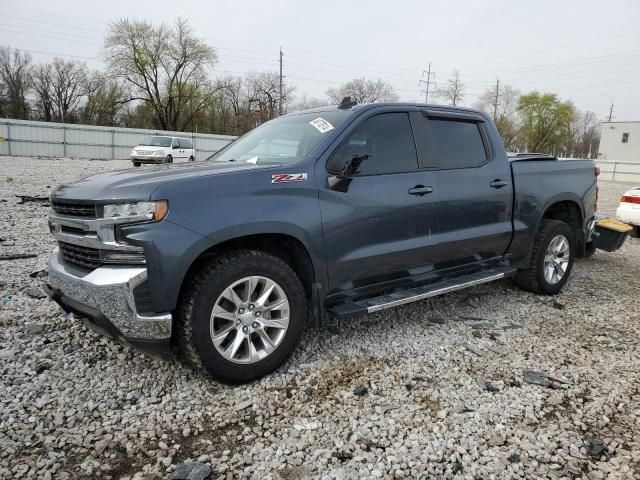
[[[162,129],[183,130],[211,101],[216,54],[186,20],[156,27],[121,19],[110,25],[105,50],[110,73],[131,86],[130,100],[153,108]]]

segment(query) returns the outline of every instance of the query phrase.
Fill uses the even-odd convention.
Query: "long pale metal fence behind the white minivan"
[[[0,137],[7,139],[0,142],[0,155],[128,159],[131,148],[149,135],[191,138],[198,160],[204,160],[236,138],[229,135],[0,119]]]

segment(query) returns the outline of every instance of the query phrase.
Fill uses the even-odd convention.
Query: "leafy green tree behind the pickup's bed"
[[[576,109],[551,93],[531,92],[518,100],[520,146],[529,152],[566,153]]]

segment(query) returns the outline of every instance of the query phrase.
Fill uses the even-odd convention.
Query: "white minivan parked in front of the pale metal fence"
[[[190,138],[156,135],[133,147],[129,158],[139,167],[143,163],[193,162],[195,155]]]

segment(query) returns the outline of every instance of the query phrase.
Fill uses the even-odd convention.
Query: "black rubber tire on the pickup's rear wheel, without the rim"
[[[564,235],[569,240],[569,263],[562,279],[552,284],[544,276],[544,258],[551,240],[557,235]],[[569,225],[559,220],[543,219],[534,240],[531,264],[528,269],[518,271],[516,284],[529,292],[556,295],[562,290],[571,274],[576,250],[575,245],[575,233]]]

